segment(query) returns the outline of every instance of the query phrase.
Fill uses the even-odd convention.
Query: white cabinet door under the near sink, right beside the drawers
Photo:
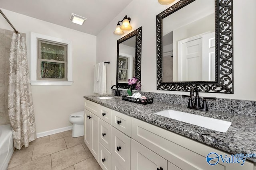
[[[167,170],[167,160],[133,139],[131,143],[132,170]]]

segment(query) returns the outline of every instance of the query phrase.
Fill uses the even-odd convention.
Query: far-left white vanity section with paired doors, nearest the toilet
[[[84,143],[99,162],[99,104],[85,100]]]

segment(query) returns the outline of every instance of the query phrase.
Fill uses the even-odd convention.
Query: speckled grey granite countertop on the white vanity
[[[84,96],[85,99],[102,106],[114,109],[230,154],[240,152],[244,154],[256,154],[256,117],[218,111],[197,111],[164,102],[153,102],[153,104],[142,105],[124,101],[120,96],[111,96],[114,99],[107,100],[98,99],[97,97],[99,96]],[[232,124],[227,132],[218,132],[153,114],[166,109],[231,121]],[[246,160],[256,162],[256,158],[247,158]]]

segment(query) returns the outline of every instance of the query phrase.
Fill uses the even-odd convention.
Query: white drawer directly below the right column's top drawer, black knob
[[[116,159],[125,167],[125,170],[130,170],[130,155],[131,155],[131,139],[112,127],[112,159]]]

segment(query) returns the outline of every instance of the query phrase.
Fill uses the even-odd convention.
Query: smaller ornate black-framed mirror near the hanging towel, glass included
[[[117,40],[116,84],[118,88],[128,89],[128,79],[141,74],[142,27]],[[134,87],[133,87],[134,88]]]

